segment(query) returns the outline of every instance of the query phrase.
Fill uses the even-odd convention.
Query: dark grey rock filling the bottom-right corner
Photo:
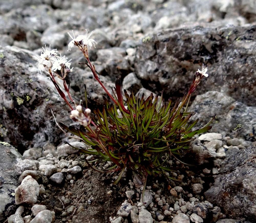
[[[228,150],[214,185],[205,192],[207,201],[232,218],[255,220],[255,155],[256,147]]]

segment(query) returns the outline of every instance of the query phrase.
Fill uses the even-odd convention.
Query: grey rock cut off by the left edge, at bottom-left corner
[[[0,141],[0,221],[15,210],[14,191],[18,186],[15,164],[23,160],[22,155],[9,143]]]

